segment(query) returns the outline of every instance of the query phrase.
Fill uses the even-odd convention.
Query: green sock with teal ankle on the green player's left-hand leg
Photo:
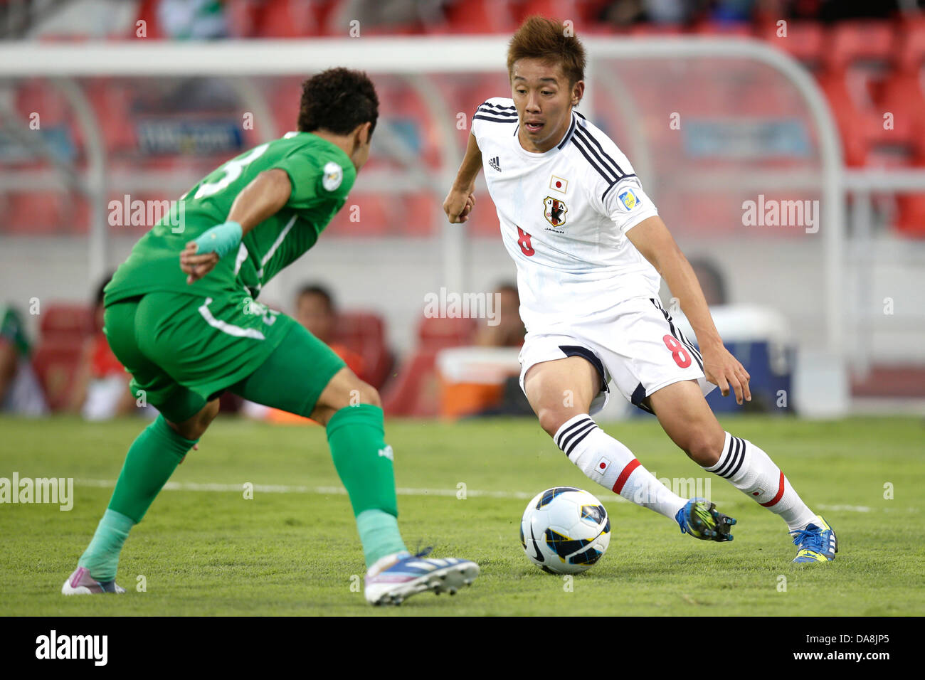
[[[93,540],[80,555],[79,566],[98,581],[116,578],[118,556],[129,529],[142,521],[157,493],[190,451],[195,441],[184,439],[167,425],[163,415],[145,427],[132,442]]]

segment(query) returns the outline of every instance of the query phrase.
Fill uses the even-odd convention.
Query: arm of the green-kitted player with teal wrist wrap
[[[187,243],[179,253],[179,267],[188,275],[186,282],[192,283],[212,271],[218,260],[238,247],[244,234],[276,214],[291,193],[285,170],[266,170],[257,175],[231,204],[228,220]]]

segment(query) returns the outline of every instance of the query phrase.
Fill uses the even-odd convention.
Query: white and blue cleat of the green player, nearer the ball
[[[416,555],[400,553],[398,560],[374,573],[376,565],[366,574],[365,596],[370,604],[401,604],[412,595],[433,590],[439,595],[455,595],[469,586],[478,575],[478,564],[448,557],[442,560],[426,558],[430,549]]]

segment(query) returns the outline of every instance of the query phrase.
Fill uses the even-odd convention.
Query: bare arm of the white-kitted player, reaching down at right
[[[707,299],[697,281],[697,275],[661,217],[644,219],[626,232],[626,238],[658,270],[672,295],[681,303],[681,309],[697,334],[697,343],[703,354],[703,372],[707,379],[719,386],[723,397],[732,388],[737,403],[741,404],[743,399],[750,402],[750,376],[722,344],[713,317],[709,315]]]

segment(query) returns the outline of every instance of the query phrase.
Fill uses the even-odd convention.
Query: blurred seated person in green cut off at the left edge
[[[13,307],[0,304],[0,412],[29,416],[48,413],[30,358],[22,317]]]

